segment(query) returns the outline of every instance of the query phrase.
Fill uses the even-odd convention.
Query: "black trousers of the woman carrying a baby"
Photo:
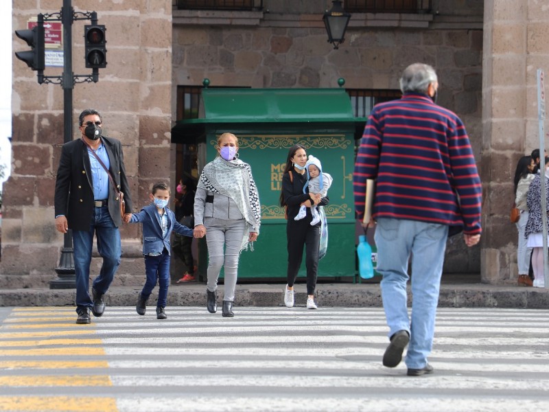
[[[311,226],[311,217],[301,220],[288,219],[288,286],[294,286],[299,266],[303,260],[305,247],[305,267],[307,268],[307,295],[314,295],[318,275],[318,248],[320,247],[320,225]]]

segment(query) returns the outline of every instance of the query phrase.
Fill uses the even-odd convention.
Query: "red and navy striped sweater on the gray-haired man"
[[[377,179],[373,217],[421,220],[481,232],[482,187],[459,117],[424,94],[377,104],[353,174],[357,217],[366,179]]]

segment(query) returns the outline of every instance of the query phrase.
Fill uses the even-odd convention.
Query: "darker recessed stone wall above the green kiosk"
[[[480,161],[479,3],[433,1],[432,14],[355,13],[337,50],[327,43],[318,3],[316,14],[311,2],[304,3],[309,14],[297,14],[288,3],[274,0],[262,13],[174,10],[172,95],[178,85],[200,86],[204,78],[211,86],[317,88],[338,87],[342,77],[349,89],[399,89],[402,70],[425,62],[439,75],[439,104],[464,120]],[[444,271],[478,273],[480,247],[450,242]]]

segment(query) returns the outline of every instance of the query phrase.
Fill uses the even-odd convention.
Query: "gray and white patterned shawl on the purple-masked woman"
[[[216,157],[205,165],[200,179],[198,179],[198,187],[233,199],[246,220],[246,230],[240,251],[247,249],[250,227],[259,235],[259,226],[261,225],[259,193],[252,177],[250,165],[240,159],[226,161],[221,157]],[[250,250],[253,251],[253,244],[250,244]]]

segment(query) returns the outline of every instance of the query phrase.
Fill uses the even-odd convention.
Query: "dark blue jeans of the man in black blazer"
[[[99,275],[93,280],[95,292],[104,295],[113,282],[120,264],[122,248],[120,232],[108,214],[108,207],[95,207],[91,216],[90,229],[73,230],[74,271],[76,276],[76,306],[93,307],[89,294],[89,277],[93,234],[97,237],[97,251],[103,258]]]

